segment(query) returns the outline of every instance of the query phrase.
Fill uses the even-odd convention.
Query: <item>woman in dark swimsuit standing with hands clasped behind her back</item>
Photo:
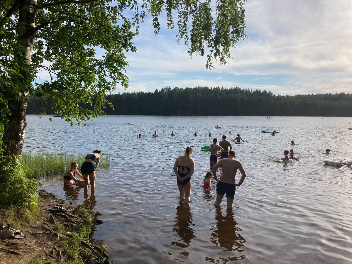
[[[191,158],[192,147],[186,147],[183,156],[176,159],[174,171],[177,176],[177,186],[180,191],[180,199],[185,203],[190,202],[191,196],[191,175],[194,173],[194,160]]]

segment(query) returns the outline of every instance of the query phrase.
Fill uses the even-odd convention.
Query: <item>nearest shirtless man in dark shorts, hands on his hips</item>
[[[213,167],[213,175],[218,184],[216,184],[216,201],[214,203],[215,207],[218,207],[226,194],[227,208],[232,209],[232,203],[235,196],[236,186],[240,186],[244,178],[246,177],[246,172],[242,166],[242,163],[238,161],[235,152],[232,150],[228,152],[228,159],[221,159]],[[220,180],[218,175],[216,175],[216,170],[221,167]],[[236,182],[237,170],[241,172],[241,179]]]

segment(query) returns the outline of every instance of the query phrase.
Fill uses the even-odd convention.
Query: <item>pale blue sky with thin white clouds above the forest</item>
[[[247,38],[231,49],[228,64],[205,68],[206,57],[190,57],[177,32],[155,36],[150,21],[126,54],[127,92],[154,92],[166,86],[239,87],[275,94],[352,92],[351,0],[249,0]],[[117,86],[113,93],[124,90]]]

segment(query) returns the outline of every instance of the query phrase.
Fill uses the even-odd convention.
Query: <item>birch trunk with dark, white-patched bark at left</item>
[[[27,127],[27,101],[33,80],[29,64],[31,63],[34,35],[36,33],[34,26],[37,12],[37,0],[20,0],[17,22],[17,44],[21,45],[22,54],[14,57],[14,65],[19,65],[21,78],[18,75],[13,76],[12,82],[20,87],[22,95],[17,99],[8,101],[8,108],[11,111],[11,115],[8,124],[4,127],[3,142],[5,145],[5,155],[19,157],[23,148]]]

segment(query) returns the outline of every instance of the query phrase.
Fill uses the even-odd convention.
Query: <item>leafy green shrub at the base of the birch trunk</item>
[[[38,185],[41,186],[42,183],[27,179],[21,163],[15,157],[0,158],[0,207],[35,206],[38,200]]]

